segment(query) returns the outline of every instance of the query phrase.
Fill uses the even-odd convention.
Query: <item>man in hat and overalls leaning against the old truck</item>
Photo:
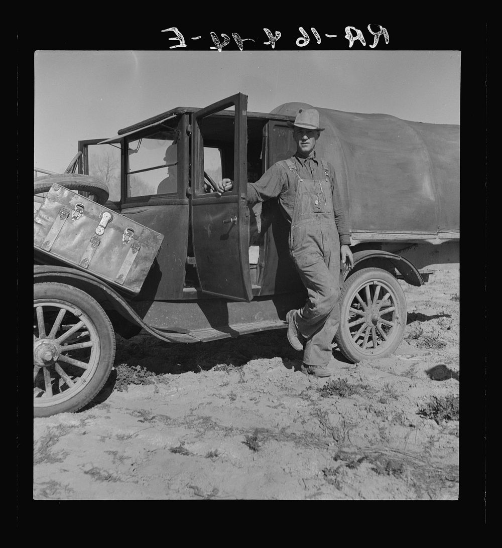
[[[284,217],[291,223],[289,252],[307,301],[290,310],[288,340],[295,350],[304,350],[301,370],[319,377],[329,376],[332,341],[340,324],[340,261],[353,266],[347,213],[342,206],[333,166],[317,158],[319,127],[315,109],[300,110],[293,124],[296,153],[276,162],[254,182],[248,183],[248,202],[254,204],[279,197]],[[230,190],[230,179],[220,181],[216,192]]]

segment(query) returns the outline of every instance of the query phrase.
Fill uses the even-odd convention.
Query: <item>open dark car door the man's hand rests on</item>
[[[204,187],[209,145],[221,151],[221,176],[233,181],[233,189],[221,196]],[[246,95],[238,93],[193,114],[190,208],[202,292],[250,301]]]

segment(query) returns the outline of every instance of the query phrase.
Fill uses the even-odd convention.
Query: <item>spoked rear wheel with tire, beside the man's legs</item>
[[[341,289],[336,344],[352,363],[384,358],[401,343],[406,318],[406,298],[396,278],[382,269],[359,270]]]

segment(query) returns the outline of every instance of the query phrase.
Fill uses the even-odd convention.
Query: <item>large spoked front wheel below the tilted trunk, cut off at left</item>
[[[75,412],[108,379],[115,333],[98,301],[65,283],[33,287],[33,416]]]

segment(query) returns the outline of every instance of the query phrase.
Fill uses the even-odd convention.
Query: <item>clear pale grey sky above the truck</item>
[[[34,165],[63,172],[78,141],[178,106],[242,92],[248,111],[285,102],[460,123],[459,51],[37,50]]]

